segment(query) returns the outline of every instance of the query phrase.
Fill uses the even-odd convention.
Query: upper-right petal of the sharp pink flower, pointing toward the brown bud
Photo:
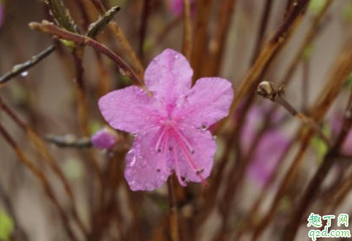
[[[184,121],[195,127],[218,122],[228,115],[233,101],[233,88],[230,81],[224,78],[200,78],[186,95],[177,117],[187,117]]]

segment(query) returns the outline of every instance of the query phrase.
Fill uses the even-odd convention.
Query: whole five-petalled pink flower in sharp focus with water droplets
[[[144,75],[153,97],[129,86],[100,98],[105,120],[136,136],[124,172],[132,190],[157,189],[173,171],[183,186],[209,177],[216,143],[206,128],[228,115],[233,89],[217,77],[191,88],[192,75],[182,54],[165,49]]]

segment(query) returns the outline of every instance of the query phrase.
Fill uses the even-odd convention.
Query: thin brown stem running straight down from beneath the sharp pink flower
[[[178,227],[177,201],[175,196],[175,181],[172,177],[168,180],[168,194],[170,206],[170,236],[172,241],[180,241],[180,230]]]

